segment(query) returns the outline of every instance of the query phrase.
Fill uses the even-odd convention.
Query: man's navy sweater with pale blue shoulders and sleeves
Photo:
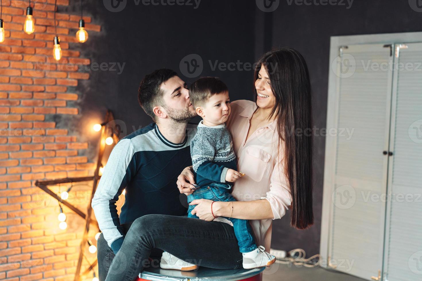
[[[121,139],[111,151],[98,183],[92,208],[108,246],[117,253],[123,243],[121,224],[146,214],[186,215],[176,181],[192,165],[189,144],[196,125],[188,124],[184,142],[169,142],[151,123]],[[120,217],[116,201],[126,189]]]

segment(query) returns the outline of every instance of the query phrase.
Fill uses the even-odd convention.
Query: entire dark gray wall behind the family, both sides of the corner
[[[346,0],[345,5],[326,6],[315,5],[314,0],[312,5],[296,5],[294,0],[289,5],[290,0],[275,0],[279,6],[271,13],[257,8],[254,0],[202,0],[196,9],[186,5],[146,6],[135,0],[124,2],[126,7],[120,12],[109,11],[103,1],[86,3],[85,13],[92,16],[93,23],[102,25],[102,32],[90,32],[87,43],[71,44],[72,49],[80,50],[92,63],[124,64],[121,74],[91,70],[90,80],[80,81],[75,88],[80,94],[75,104],[80,108],[80,116],[71,125],[81,141],[90,142],[91,161],[95,160],[98,142],[90,128],[93,120],[100,121],[105,110],[111,109],[115,118],[126,125],[125,134],[151,123],[137,101],[141,78],[160,67],[180,73],[179,63],[189,54],[198,54],[203,59],[200,75],[222,78],[229,86],[230,98],[236,100],[252,99],[253,72],[244,67],[213,71],[208,60],[252,64],[271,47],[296,48],[305,57],[311,75],[314,125],[324,128],[330,36],[419,31],[422,16],[406,0],[354,0],[349,9]],[[78,1],[68,10],[78,14]],[[187,82],[195,80],[183,74],[181,77]],[[274,221],[273,248],[303,248],[308,257],[319,252],[324,150],[324,137],[315,137],[315,225],[309,230],[295,230],[289,225],[287,213]]]

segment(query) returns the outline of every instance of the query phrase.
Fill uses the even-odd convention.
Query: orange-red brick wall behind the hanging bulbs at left
[[[78,70],[78,64],[90,63],[89,58],[72,50],[79,44],[75,33],[80,16],[78,11],[61,13],[69,0],[57,0],[63,56],[56,64],[54,0],[32,1],[31,35],[23,32],[28,1],[0,1],[6,31],[0,43],[0,279],[73,280],[84,220],[64,208],[68,228],[60,230],[57,201],[34,183],[93,174],[93,163],[81,156],[88,143],[54,122],[55,115],[66,121],[80,113],[71,105],[78,100],[74,86],[79,79],[89,79],[88,73]],[[84,19],[91,35],[100,32],[90,17]],[[60,193],[69,186],[50,188]],[[68,201],[86,212],[91,189],[92,182],[74,184]],[[94,243],[96,232],[89,233]],[[95,254],[88,253],[88,258],[93,261]]]

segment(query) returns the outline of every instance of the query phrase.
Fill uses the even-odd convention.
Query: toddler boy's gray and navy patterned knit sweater
[[[213,182],[233,184],[225,180],[228,169],[237,171],[237,163],[232,138],[224,123],[206,126],[201,120],[190,142],[190,154],[198,186]]]

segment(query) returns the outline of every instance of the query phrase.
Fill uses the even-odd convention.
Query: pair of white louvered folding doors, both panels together
[[[336,270],[422,280],[421,65],[422,43],[338,47],[321,237]]]

